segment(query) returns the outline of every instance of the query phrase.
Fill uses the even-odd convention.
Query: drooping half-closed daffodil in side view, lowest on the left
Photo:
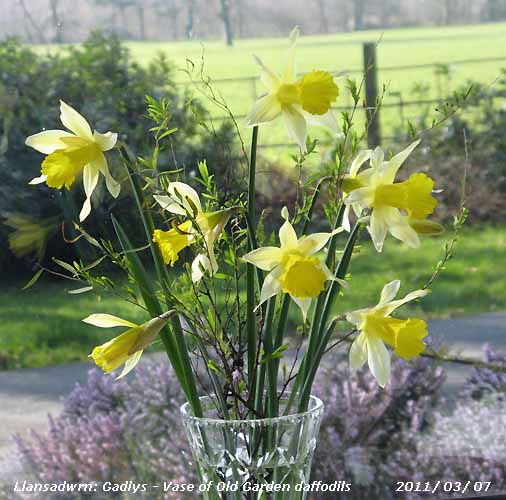
[[[124,364],[123,371],[118,378],[124,377],[135,368],[144,349],[156,339],[172,314],[174,311],[168,311],[142,325],[136,325],[111,314],[92,314],[84,318],[85,323],[100,328],[129,327],[118,337],[95,347],[90,358],[93,358],[93,361],[106,373],[116,370]]]

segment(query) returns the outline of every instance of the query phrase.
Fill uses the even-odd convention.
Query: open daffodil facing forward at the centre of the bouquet
[[[243,259],[264,271],[270,271],[260,292],[260,304],[278,293],[288,293],[300,307],[305,321],[311,301],[323,291],[325,282],[336,279],[325,263],[314,254],[342,228],[298,239],[288,220],[286,208],[282,215],[285,222],[279,230],[280,246],[258,248],[247,253]]]

